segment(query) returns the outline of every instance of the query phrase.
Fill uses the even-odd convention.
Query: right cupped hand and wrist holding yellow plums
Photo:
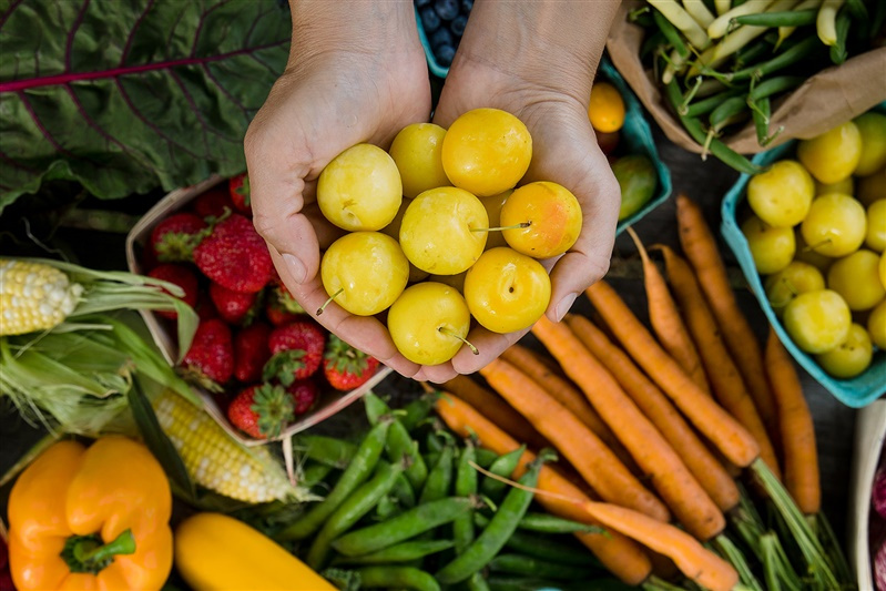
[[[532,162],[523,182],[553,181],[578,197],[581,235],[568,253],[544,262],[552,288],[546,315],[559,322],[576,297],[605,275],[615,240],[621,193],[588,120],[588,100],[618,2],[500,4],[475,4],[434,122],[448,128],[481,106],[517,115],[532,135]],[[588,26],[589,7],[597,11],[597,30]],[[547,34],[547,27],[557,34]],[[475,328],[468,340],[479,355],[462,347],[451,361],[422,374],[444,381],[456,373],[473,373],[527,332],[499,335]]]

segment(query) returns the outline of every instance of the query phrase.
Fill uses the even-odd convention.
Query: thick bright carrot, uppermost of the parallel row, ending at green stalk
[[[673,400],[690,422],[731,462],[742,468],[750,466],[760,455],[756,440],[699,388],[689,374],[658,344],[615,291],[604,281],[599,281],[584,293],[622,347]]]

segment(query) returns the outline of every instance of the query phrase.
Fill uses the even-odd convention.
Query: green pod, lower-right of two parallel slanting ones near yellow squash
[[[322,569],[329,556],[329,543],[371,511],[401,473],[403,466],[379,462],[375,476],[352,492],[323,524],[314,537],[305,562],[314,570]]]

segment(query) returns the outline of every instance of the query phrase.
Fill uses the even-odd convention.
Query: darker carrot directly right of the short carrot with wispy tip
[[[658,246],[656,246],[658,247]],[[766,427],[757,412],[753,398],[747,394],[747,388],[742,375],[723,342],[720,327],[716,324],[711,307],[704,299],[701,286],[689,264],[668,246],[660,247],[664,254],[668,275],[674,296],[683,308],[692,338],[699,347],[702,363],[711,378],[714,396],[739,422],[744,425],[760,446],[760,457],[778,477],[778,459],[772,440],[766,432]]]

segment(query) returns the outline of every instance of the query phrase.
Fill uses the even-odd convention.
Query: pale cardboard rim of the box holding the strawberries
[[[129,269],[133,273],[143,273],[146,269],[142,267],[141,255],[144,245],[151,236],[151,231],[164,217],[186,207],[192,200],[201,193],[214,187],[220,183],[226,183],[226,179],[220,176],[212,176],[196,185],[179,188],[154,205],[144,216],[132,227],[126,236],[126,264]],[[163,357],[170,365],[175,365],[179,358],[179,346],[175,337],[174,324],[165,318],[156,316],[153,312],[141,310],[147,329],[151,336],[160,348]],[[225,409],[223,409],[213,396],[205,389],[194,386],[194,390],[203,399],[206,412],[224,428],[232,437],[236,438],[245,446],[261,446],[271,441],[278,441],[289,438],[291,436],[303,431],[323,420],[332,417],[336,412],[346,408],[352,403],[359,399],[364,394],[369,391],[373,387],[381,383],[391,369],[387,366],[379,365],[376,374],[359,388],[340,393],[337,390],[320,391],[319,398],[312,410],[298,417],[289,427],[283,430],[278,437],[268,439],[253,439],[240,430],[235,429],[227,420]]]

